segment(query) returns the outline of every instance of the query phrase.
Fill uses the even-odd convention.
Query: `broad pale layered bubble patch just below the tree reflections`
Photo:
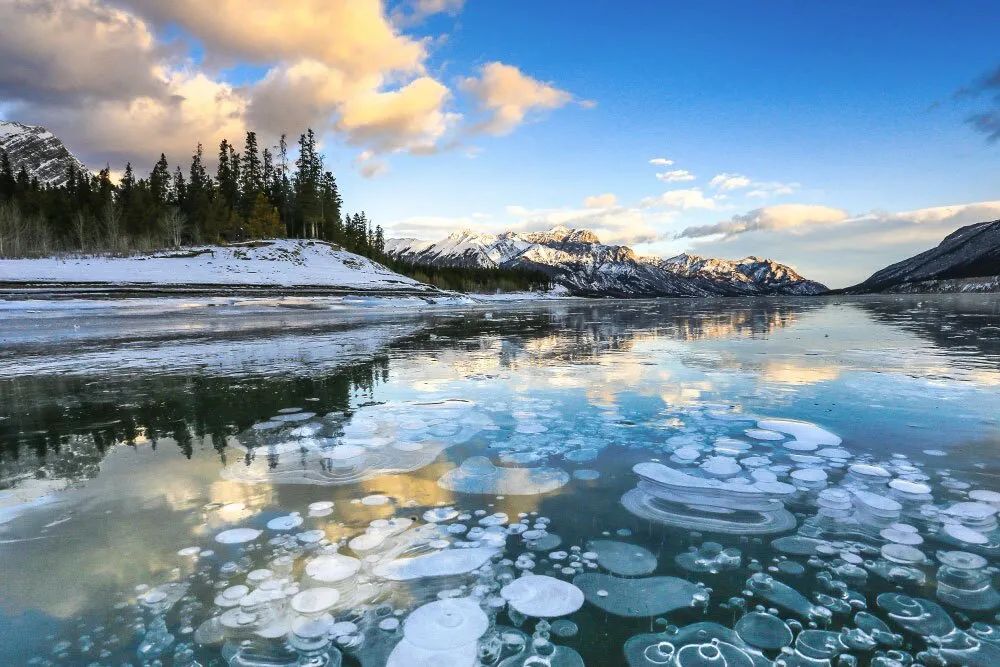
[[[419,470],[493,425],[475,403],[456,399],[363,406],[349,415],[279,414],[262,423],[272,426],[240,436],[244,460],[227,466],[223,477],[245,483],[351,484]]]

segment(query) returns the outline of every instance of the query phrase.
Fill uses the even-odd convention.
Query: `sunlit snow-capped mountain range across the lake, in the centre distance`
[[[441,241],[390,239],[386,251],[414,264],[534,269],[580,295],[738,296],[826,291],[824,285],[769,259],[642,257],[628,246],[601,243],[591,231],[562,226],[546,232],[502,234],[460,230]]]

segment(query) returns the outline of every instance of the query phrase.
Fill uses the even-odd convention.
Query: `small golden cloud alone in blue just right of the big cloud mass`
[[[475,130],[493,135],[509,134],[530,113],[558,109],[573,101],[565,90],[501,62],[483,65],[478,77],[462,79],[459,86],[487,114]]]

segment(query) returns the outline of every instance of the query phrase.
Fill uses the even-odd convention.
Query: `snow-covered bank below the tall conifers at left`
[[[436,292],[322,241],[277,239],[130,257],[0,259],[0,283],[344,288]]]

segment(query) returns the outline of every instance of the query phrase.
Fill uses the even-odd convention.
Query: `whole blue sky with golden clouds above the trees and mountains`
[[[45,11],[0,17],[0,62],[38,60],[34,78],[0,65],[3,115],[47,124],[91,164],[310,124],[348,207],[398,235],[559,222],[650,254],[771,256],[842,285],[1000,218],[1000,142],[967,122],[1000,123],[1000,84],[980,83],[1000,67],[996,2]],[[125,37],[94,44],[88,21]],[[39,26],[47,52],[28,41]],[[117,85],[50,62],[67,51]]]

